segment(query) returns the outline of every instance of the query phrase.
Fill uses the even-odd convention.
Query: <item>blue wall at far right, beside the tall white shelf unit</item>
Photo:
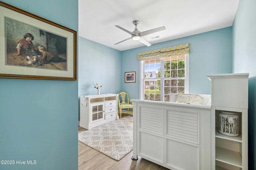
[[[256,1],[240,0],[233,25],[233,72],[249,72],[248,156],[249,168],[256,169]]]

